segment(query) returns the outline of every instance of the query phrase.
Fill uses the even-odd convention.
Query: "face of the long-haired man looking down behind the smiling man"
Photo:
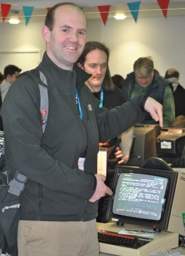
[[[107,54],[99,49],[88,52],[84,65],[78,65],[92,76],[85,82],[91,91],[101,90],[105,73],[107,70]]]

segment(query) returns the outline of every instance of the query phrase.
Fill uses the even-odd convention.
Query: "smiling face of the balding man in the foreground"
[[[52,31],[42,27],[47,54],[58,67],[72,70],[84,50],[87,22],[77,7],[62,5],[55,9]]]

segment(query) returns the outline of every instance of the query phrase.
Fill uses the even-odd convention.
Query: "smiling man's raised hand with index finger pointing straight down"
[[[163,106],[158,101],[148,97],[144,104],[144,109],[150,113],[156,122],[159,122],[160,127],[163,127]]]

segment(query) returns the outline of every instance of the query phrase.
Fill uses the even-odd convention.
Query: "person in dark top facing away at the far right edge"
[[[166,78],[173,87],[176,117],[185,115],[185,89],[179,83],[179,72],[175,68],[169,68],[164,78]]]

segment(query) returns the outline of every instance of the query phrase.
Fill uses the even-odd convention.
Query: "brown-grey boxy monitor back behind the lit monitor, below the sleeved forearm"
[[[158,124],[137,124],[134,126],[133,143],[127,165],[141,166],[148,157],[156,155],[156,139],[160,134]]]

